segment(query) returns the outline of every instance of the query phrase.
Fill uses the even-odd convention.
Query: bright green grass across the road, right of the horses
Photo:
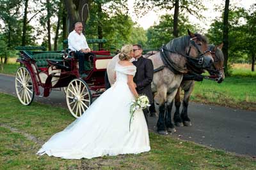
[[[218,84],[196,82],[192,101],[256,110],[256,77],[227,77]]]

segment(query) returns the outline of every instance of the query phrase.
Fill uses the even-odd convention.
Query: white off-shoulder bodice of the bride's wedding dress
[[[127,83],[127,74],[134,76],[136,73],[136,66],[121,66],[116,63],[116,81],[123,81]]]

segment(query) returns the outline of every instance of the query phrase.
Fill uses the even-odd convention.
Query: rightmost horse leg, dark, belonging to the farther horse
[[[184,99],[183,99],[183,107],[181,111],[180,117],[182,118],[182,122],[185,126],[191,126],[190,118],[188,117],[188,104],[189,104],[189,97],[194,89],[195,81],[191,83],[189,89],[184,90]]]

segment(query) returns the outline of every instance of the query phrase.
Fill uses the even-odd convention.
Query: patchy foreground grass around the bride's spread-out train
[[[72,121],[74,118],[63,108],[40,103],[23,106],[16,97],[0,93],[0,169],[256,169],[256,160],[250,157],[153,132],[150,152],[138,155],[91,160],[35,155],[42,143]]]

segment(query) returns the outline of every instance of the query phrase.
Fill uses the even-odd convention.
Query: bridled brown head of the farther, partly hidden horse
[[[211,76],[215,76],[215,80],[218,83],[221,83],[225,79],[224,73],[224,55],[221,51],[223,47],[223,43],[220,45],[209,45],[209,51],[211,52],[212,58],[214,59],[214,63],[211,67],[206,70],[211,74]]]

